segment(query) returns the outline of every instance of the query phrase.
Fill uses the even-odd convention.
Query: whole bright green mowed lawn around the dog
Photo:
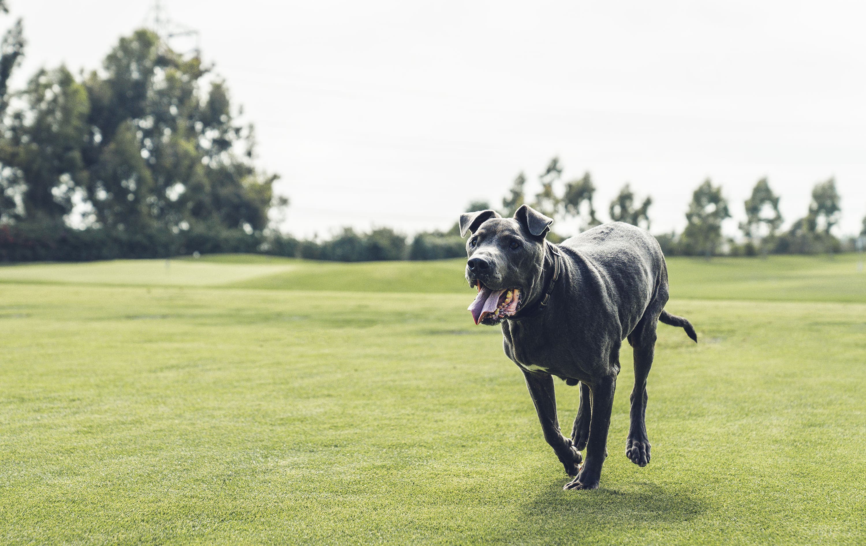
[[[670,260],[700,343],[659,326],[643,469],[623,351],[598,491],[461,260],[0,267],[0,543],[863,544],[858,261]]]

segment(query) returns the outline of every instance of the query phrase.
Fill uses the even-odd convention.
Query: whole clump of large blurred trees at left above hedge
[[[28,219],[60,218],[77,202],[106,228],[261,231],[268,209],[288,201],[255,168],[253,127],[236,122],[225,82],[209,73],[146,29],[81,81],[65,67],[40,71],[6,116],[3,195]]]

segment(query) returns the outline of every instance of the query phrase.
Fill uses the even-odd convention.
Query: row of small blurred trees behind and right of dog
[[[553,218],[576,221],[580,231],[600,224],[593,203],[596,187],[591,174],[586,172],[582,177],[556,184],[562,171],[559,158],[553,157],[539,176],[540,192],[531,199],[525,195],[527,177],[521,172],[502,199],[500,214],[513,215],[520,205],[528,202]],[[649,230],[651,205],[650,196],[638,198],[626,183],[611,201],[608,213],[611,222],[626,222]],[[722,233],[722,222],[731,217],[730,205],[721,186],[707,179],[692,194],[685,214],[686,228],[682,233],[658,234],[656,239],[665,254],[687,256],[837,253],[854,250],[856,246],[856,238],[839,239],[830,231],[839,221],[842,210],[836,181],[832,177],[815,185],[805,215],[792,222],[786,231],[780,230],[784,219],[779,212],[779,196],[772,191],[766,178],[755,184],[752,195],[743,205],[746,221],[739,226],[742,239],[726,237]],[[488,202],[469,204],[469,210],[490,208]],[[455,233],[454,228],[449,232]],[[860,235],[866,237],[866,218],[863,218]],[[548,238],[553,241],[563,239],[556,233],[548,234]]]

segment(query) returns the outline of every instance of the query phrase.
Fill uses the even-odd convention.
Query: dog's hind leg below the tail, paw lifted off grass
[[[657,315],[648,311],[637,328],[629,335],[635,359],[635,387],[631,390],[629,437],[625,440],[625,456],[637,466],[650,463],[650,439],[647,437],[646,409],[647,376],[650,375],[656,352]]]

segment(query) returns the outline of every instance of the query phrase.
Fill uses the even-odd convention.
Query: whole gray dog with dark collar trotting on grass
[[[469,311],[475,324],[502,324],[505,354],[526,377],[545,440],[574,477],[565,489],[595,489],[607,457],[623,340],[629,340],[635,361],[625,455],[646,466],[646,383],[656,324],[681,326],[695,341],[697,335],[688,320],[664,310],[668,269],[652,235],[613,222],[557,246],[545,239],[551,223],[527,205],[514,218],[494,210],[460,216],[461,236],[472,232],[466,279],[478,290]],[[571,438],[559,430],[553,376],[580,383]]]

